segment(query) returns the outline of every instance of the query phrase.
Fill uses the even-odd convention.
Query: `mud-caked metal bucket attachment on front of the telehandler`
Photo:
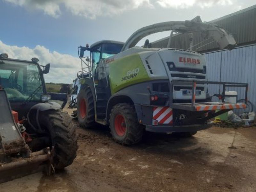
[[[4,90],[0,90],[0,183],[45,169],[52,172],[54,148],[31,153],[23,139],[22,125],[14,121]]]

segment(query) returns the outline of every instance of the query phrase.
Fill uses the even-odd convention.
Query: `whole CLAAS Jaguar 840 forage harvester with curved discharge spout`
[[[142,38],[171,31],[166,48],[152,48]],[[189,33],[188,50],[170,47],[173,33]],[[137,30],[125,43],[100,41],[78,47],[82,70],[78,73],[81,89],[77,96],[77,115],[82,127],[96,122],[110,126],[120,144],[134,144],[144,131],[175,133],[183,136],[212,126],[210,119],[244,103],[226,103],[227,87],[248,84],[206,81],[206,61],[193,51],[192,34],[217,42],[220,49],[233,49],[236,41],[223,28],[193,20],[157,23]],[[84,52],[90,56],[85,57]],[[218,84],[219,102],[212,102],[208,84]]]

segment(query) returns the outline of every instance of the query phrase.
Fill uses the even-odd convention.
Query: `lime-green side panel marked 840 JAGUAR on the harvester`
[[[129,55],[109,63],[111,94],[132,84],[150,80],[139,54]]]

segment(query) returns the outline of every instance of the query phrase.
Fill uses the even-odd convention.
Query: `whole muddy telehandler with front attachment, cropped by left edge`
[[[41,67],[37,58],[0,55],[0,183],[41,168],[50,174],[76,157],[75,129],[61,110],[67,95],[46,92],[50,64]]]

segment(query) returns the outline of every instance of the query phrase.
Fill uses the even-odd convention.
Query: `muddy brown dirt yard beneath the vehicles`
[[[0,191],[256,191],[256,127],[213,127],[183,139],[148,132],[129,147],[104,126],[77,132],[77,157],[65,171],[9,181]]]

